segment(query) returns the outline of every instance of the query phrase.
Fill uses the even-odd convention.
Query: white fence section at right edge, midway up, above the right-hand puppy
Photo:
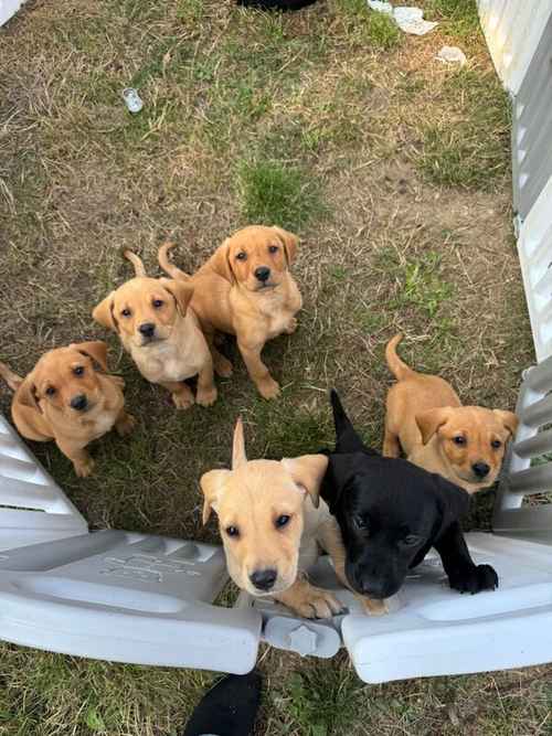
[[[541,362],[552,355],[552,178],[520,223],[518,253],[534,351]]]

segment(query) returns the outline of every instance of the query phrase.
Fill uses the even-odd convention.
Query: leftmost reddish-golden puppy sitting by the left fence
[[[15,392],[11,414],[21,435],[38,442],[55,440],[81,477],[89,476],[94,468],[85,449],[89,442],[113,427],[126,435],[135,425],[134,417],[125,412],[125,382],[104,371],[105,342],[51,350],[25,378],[0,363],[0,375]]]

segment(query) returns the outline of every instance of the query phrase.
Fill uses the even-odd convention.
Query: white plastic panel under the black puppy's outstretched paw
[[[343,619],[343,641],[364,682],[552,661],[552,547],[492,534],[466,538],[474,561],[497,570],[499,589],[460,595],[438,559],[426,559],[400,591],[396,612]]]

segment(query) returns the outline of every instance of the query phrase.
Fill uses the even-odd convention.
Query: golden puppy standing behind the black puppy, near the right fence
[[[388,394],[383,455],[399,457],[402,448],[408,460],[468,493],[492,486],[518,427],[517,416],[463,406],[446,381],[417,373],[399,358],[401,340],[395,335],[385,349],[397,383]]]

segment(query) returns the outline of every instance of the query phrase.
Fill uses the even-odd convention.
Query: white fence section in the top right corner
[[[498,75],[516,94],[552,12],[552,0],[478,0],[477,6]]]

